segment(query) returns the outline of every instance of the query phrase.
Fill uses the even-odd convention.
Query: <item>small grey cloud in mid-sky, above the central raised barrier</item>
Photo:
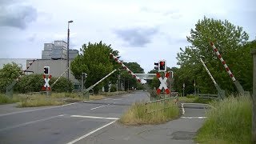
[[[150,43],[154,34],[158,33],[157,28],[135,27],[129,29],[115,30],[119,38],[126,41],[129,46],[145,46]]]

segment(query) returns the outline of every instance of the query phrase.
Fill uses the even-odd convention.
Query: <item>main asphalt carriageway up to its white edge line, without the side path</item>
[[[0,114],[0,143],[71,142],[114,122],[133,102],[148,99],[146,93],[136,92],[98,101]]]

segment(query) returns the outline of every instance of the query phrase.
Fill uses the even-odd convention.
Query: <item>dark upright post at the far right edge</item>
[[[252,128],[251,128],[251,134],[252,134],[252,143],[256,143],[256,49],[251,50],[251,54],[254,58],[254,86],[253,86],[253,95],[252,95],[252,101],[253,101],[253,111],[252,111]]]

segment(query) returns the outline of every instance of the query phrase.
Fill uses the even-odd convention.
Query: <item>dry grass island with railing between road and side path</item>
[[[165,108],[165,110],[161,110]],[[150,114],[146,113],[151,112]],[[154,110],[158,110],[153,112]],[[179,109],[174,102],[150,103],[145,106],[143,102],[134,103],[129,110],[118,120],[125,125],[159,124],[178,118]]]

